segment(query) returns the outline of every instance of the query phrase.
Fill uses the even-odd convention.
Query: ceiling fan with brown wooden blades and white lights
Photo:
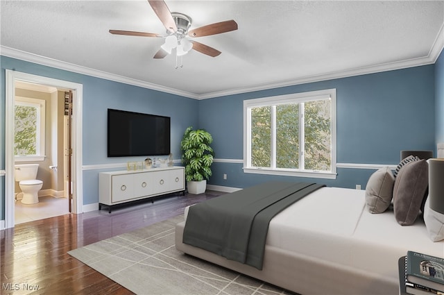
[[[183,56],[191,49],[194,49],[214,58],[219,56],[221,51],[200,42],[189,40],[188,37],[203,37],[237,30],[237,23],[231,19],[225,22],[208,24],[207,26],[201,26],[200,28],[194,28],[193,30],[188,31],[191,26],[191,17],[182,13],[170,12],[167,4],[163,0],[148,0],[148,3],[150,3],[151,8],[153,8],[157,17],[159,17],[162,24],[167,28],[166,36],[155,33],[120,30],[110,30],[110,33],[114,35],[165,37],[165,43],[161,46],[159,51],[155,53],[154,58],[164,58],[175,48],[176,56]]]

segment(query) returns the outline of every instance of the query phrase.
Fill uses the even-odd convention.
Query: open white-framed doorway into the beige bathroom
[[[22,212],[16,210],[17,204],[19,210],[25,210],[24,212],[27,210],[27,215],[34,215],[34,217],[28,216],[29,218],[36,219],[50,217],[51,214],[56,216],[68,212],[82,212],[80,106],[83,86],[10,70],[6,71],[6,81],[6,228],[26,222],[23,221],[23,216],[22,219],[15,218],[16,214]],[[18,183],[15,183],[14,172],[15,165],[20,164],[16,162],[17,157],[15,156],[15,102],[17,97],[45,92],[49,93],[49,99],[46,98],[49,101],[49,106],[45,108],[46,116],[49,115],[46,119],[46,124],[49,126],[45,128],[46,133],[49,133],[47,134],[49,140],[46,140],[44,144],[44,153],[47,155],[42,154],[44,160],[27,158],[26,156],[18,157],[22,158],[19,159],[22,162],[39,163],[37,179],[43,178],[44,186],[40,191],[37,205],[22,205],[19,203],[20,201],[15,200]],[[61,115],[52,116],[54,112],[56,114],[61,112]],[[70,121],[71,126],[68,126]],[[58,138],[58,140],[53,140],[54,138]],[[71,147],[68,146],[69,143]],[[69,169],[69,165],[71,165],[71,169]],[[19,190],[17,189],[17,192]],[[42,207],[40,211],[39,205]]]

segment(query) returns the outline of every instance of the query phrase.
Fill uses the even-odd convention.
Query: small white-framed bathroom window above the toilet
[[[16,161],[44,160],[45,101],[28,97],[15,97]]]

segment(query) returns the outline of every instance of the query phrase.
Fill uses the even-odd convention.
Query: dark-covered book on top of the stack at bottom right
[[[406,288],[409,282],[444,292],[444,258],[408,251],[406,280]]]

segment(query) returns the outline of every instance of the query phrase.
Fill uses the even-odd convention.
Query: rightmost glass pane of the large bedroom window
[[[331,101],[305,103],[305,169],[331,171]]]

